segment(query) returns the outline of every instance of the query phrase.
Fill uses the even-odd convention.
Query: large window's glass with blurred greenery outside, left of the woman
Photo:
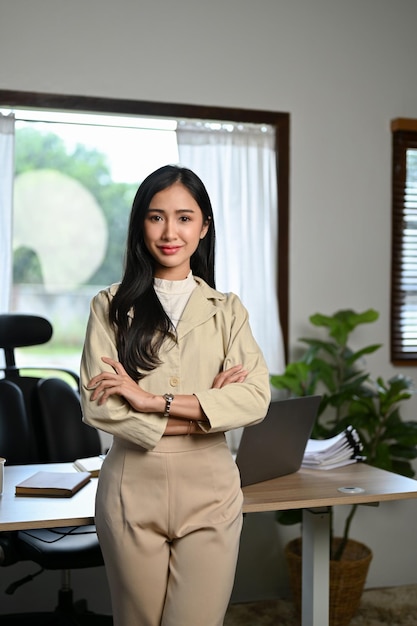
[[[77,371],[89,302],[120,280],[138,184],[178,161],[173,120],[13,109],[10,307],[48,318],[47,345],[18,350]]]

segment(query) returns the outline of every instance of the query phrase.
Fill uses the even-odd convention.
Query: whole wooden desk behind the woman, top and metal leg
[[[94,523],[97,479],[72,498],[23,498],[16,483],[39,469],[75,471],[71,463],[6,466],[0,496],[0,531]],[[341,493],[357,487],[359,493]],[[417,498],[417,481],[357,463],[331,471],[300,470],[243,489],[246,513],[303,509],[303,626],[328,626],[330,506]]]

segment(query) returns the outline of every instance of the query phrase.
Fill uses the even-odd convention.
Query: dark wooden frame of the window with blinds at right
[[[417,120],[397,118],[391,122],[392,132],[392,178],[391,178],[391,314],[390,356],[393,365],[417,365],[417,338],[415,349],[403,348],[402,306],[404,289],[401,281],[404,267],[404,215],[407,184],[407,150],[417,149]],[[417,275],[416,275],[417,279]]]

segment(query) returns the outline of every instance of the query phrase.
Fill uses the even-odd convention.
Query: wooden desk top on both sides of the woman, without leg
[[[6,466],[0,496],[0,531],[93,524],[97,478],[92,478],[72,498],[15,496],[15,485],[40,469],[76,471],[72,463]],[[339,487],[359,487],[363,491],[341,493]],[[243,494],[245,513],[284,511],[417,498],[417,480],[355,463],[335,470],[301,469],[248,485]]]

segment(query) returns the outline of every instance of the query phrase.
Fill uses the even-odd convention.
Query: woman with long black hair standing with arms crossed
[[[165,166],[135,196],[120,285],[92,301],[85,421],[111,433],[96,526],[115,626],[220,626],[242,526],[224,432],[259,422],[269,374],[248,315],[214,284],[210,199]]]

